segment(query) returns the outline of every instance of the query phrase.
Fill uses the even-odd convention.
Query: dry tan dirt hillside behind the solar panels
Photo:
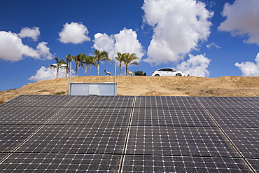
[[[74,77],[71,82],[113,82],[114,76]],[[16,90],[0,92],[6,102],[18,95],[67,95],[69,78],[29,83]],[[259,97],[259,77],[224,76],[152,77],[117,76],[118,95]]]

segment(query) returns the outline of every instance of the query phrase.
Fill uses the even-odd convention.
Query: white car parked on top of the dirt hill
[[[172,68],[163,68],[153,71],[152,76],[190,76],[189,74],[177,71]]]

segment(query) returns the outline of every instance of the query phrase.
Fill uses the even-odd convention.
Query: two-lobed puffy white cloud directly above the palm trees
[[[137,39],[137,33],[132,29],[124,28],[120,33],[111,36],[98,33],[94,35],[93,41],[93,47],[98,50],[106,50],[111,59],[114,59],[117,53],[136,53],[139,59],[144,56],[144,50]]]

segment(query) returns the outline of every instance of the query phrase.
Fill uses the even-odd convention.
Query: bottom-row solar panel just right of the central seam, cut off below
[[[252,172],[240,158],[126,155],[123,172]]]

